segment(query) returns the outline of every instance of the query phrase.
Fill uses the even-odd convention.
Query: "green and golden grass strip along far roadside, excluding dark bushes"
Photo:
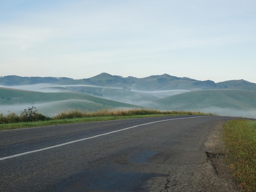
[[[172,115],[216,115],[205,114],[202,112],[178,112],[178,111],[158,111],[154,109],[130,109],[130,110],[100,110],[97,112],[80,112],[71,110],[62,112],[52,118],[47,118],[45,121],[17,122],[17,123],[2,123],[0,130],[19,129],[26,127],[42,127],[50,125],[64,125],[72,123],[88,123],[96,121],[110,121],[127,118],[142,118],[153,116],[172,116]]]

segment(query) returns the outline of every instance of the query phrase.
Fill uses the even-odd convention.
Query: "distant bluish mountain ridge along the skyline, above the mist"
[[[199,90],[199,89],[241,89],[256,91],[256,84],[246,80],[229,80],[215,83],[211,80],[195,80],[187,77],[176,77],[168,74],[153,75],[145,78],[113,76],[107,73],[101,73],[97,76],[84,79],[72,79],[66,77],[20,77],[20,76],[2,76],[0,85],[17,86],[33,85],[39,83],[56,85],[94,85],[99,87],[116,87],[135,90]]]

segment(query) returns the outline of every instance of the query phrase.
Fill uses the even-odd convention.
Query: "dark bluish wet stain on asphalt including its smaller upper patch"
[[[59,183],[53,191],[67,192],[73,189],[78,192],[149,191],[148,186],[145,185],[148,180],[167,176],[166,174],[143,171],[144,166],[150,166],[148,160],[157,154],[158,152],[155,151],[144,150],[130,156],[125,164],[123,160],[115,160],[115,163],[92,170],[85,170]]]

